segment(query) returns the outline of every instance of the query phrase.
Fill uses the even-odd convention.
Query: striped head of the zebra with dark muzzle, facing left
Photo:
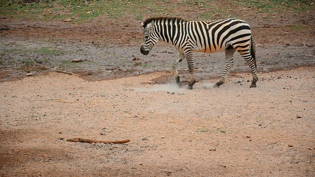
[[[156,45],[158,41],[157,34],[154,30],[154,21],[150,23],[141,23],[144,28],[143,36],[142,36],[142,45],[140,48],[140,52],[143,55],[148,55],[151,49]]]

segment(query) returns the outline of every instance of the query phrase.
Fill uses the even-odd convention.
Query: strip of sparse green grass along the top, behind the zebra
[[[198,12],[196,18],[212,19],[236,17],[244,8],[257,13],[301,12],[314,9],[314,1],[243,0],[225,4],[216,0],[8,0],[0,2],[0,16],[45,21],[70,19],[76,23],[91,22],[100,16],[110,19],[127,16],[135,20],[146,16],[182,16],[181,11],[191,10],[191,14]]]

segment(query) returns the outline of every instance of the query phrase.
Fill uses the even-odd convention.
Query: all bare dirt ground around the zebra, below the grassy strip
[[[174,84],[171,46],[140,54],[135,20],[0,19],[0,176],[314,177],[314,14],[245,14],[257,88],[235,56],[226,83],[213,89],[224,54],[199,53],[192,90]],[[47,55],[34,50],[40,46],[71,52]],[[33,66],[31,58],[76,75]],[[71,59],[85,61],[64,64]],[[185,80],[187,66],[180,67]],[[130,142],[66,141],[76,137]]]

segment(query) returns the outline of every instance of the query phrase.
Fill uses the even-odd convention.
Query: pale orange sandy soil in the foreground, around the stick
[[[1,83],[1,176],[314,176],[315,67],[196,83],[169,73]],[[69,138],[130,139],[122,145]]]

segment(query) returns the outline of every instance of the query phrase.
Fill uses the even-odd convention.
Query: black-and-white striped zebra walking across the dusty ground
[[[227,74],[233,65],[233,54],[237,51],[246,60],[252,70],[252,84],[256,87],[258,76],[256,72],[255,45],[252,31],[245,21],[229,18],[214,21],[186,21],[180,17],[152,17],[146,19],[141,26],[144,28],[140,52],[148,55],[157,41],[165,41],[176,47],[179,54],[172,61],[175,81],[179,87],[180,81],[177,64],[187,60],[190,74],[188,89],[195,84],[193,52],[217,53],[225,51],[226,65],[219,82],[213,87],[224,84]]]

